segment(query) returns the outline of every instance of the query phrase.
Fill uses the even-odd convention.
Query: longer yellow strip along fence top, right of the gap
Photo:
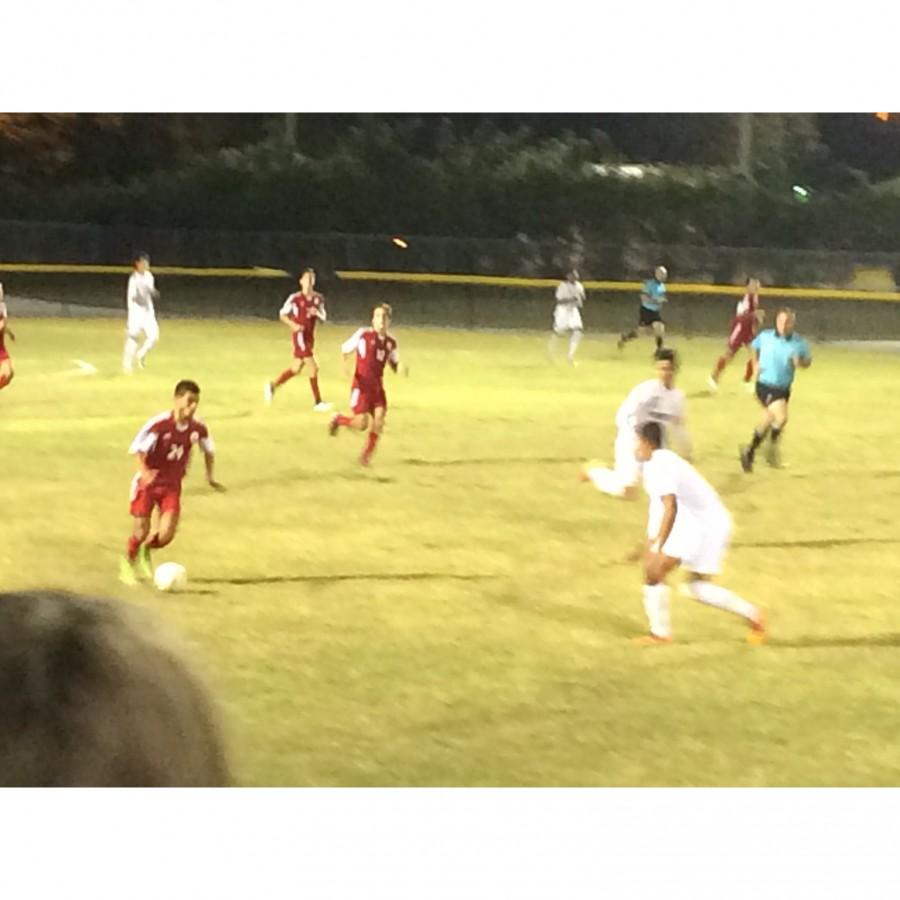
[[[394,284],[466,284],[482,287],[539,287],[552,288],[559,284],[557,278],[506,278],[500,275],[441,275],[434,272],[370,272],[340,269],[335,274],[344,281],[381,281]],[[586,289],[594,291],[640,291],[640,281],[585,281]],[[735,284],[667,284],[670,294],[734,294],[744,293],[742,285]],[[824,298],[828,300],[882,300],[900,302],[900,291],[851,291],[840,288],[785,288],[763,286],[766,297],[796,297],[799,299]]]

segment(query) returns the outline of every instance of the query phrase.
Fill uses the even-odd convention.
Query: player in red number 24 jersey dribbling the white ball
[[[119,567],[119,577],[125,584],[137,583],[135,569],[143,577],[152,578],[150,551],[165,547],[175,537],[181,512],[181,482],[194,444],[203,451],[209,486],[225,490],[213,474],[215,447],[209,429],[194,416],[199,403],[200,388],[196,382],[179,381],[172,411],[150,419],[131,442],[128,452],[137,457],[137,473],[131,482],[134,529],[128,539],[128,553]],[[154,507],[159,509],[159,515],[151,534]]]

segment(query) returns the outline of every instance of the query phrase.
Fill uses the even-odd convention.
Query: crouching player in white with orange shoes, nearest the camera
[[[747,641],[765,641],[762,612],[742,597],[713,584],[731,537],[731,516],[712,485],[686,460],[663,449],[663,430],[658,422],[638,429],[635,455],[643,464],[644,488],[650,497],[647,543],[632,555],[643,556],[644,611],[650,633],[641,644],[672,641],[669,588],[666,578],[678,566],[690,574],[682,593],[701,603],[742,616],[750,624]]]

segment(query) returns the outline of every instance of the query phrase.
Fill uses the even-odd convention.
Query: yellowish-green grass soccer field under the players
[[[118,374],[121,323],[18,323],[0,393],[0,583],[62,586],[156,610],[195,649],[252,785],[892,785],[900,783],[900,467],[896,359],[816,348],[798,379],[789,468],[740,472],[757,417],[720,342],[681,341],[697,464],[736,530],[723,581],[769,612],[771,643],[673,597],[678,643],[638,649],[646,501],[576,480],[609,458],[613,415],[650,347],[586,339],[549,365],[545,336],[398,327],[373,469],[326,434],[277,324],[163,323],[151,368]],[[321,382],[346,406],[337,345]],[[100,374],[70,374],[71,359]],[[128,444],[197,379],[218,444],[195,460],[181,530],[157,562],[191,590],[116,581]]]

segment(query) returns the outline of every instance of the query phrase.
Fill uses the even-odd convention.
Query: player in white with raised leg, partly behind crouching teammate
[[[625,398],[616,413],[619,429],[615,443],[615,468],[608,469],[596,461],[584,468],[582,478],[605,494],[633,500],[637,496],[641,467],[635,458],[637,431],[645,422],[666,426],[685,456],[691,455],[691,440],[685,425],[684,391],[675,387],[678,356],[674,350],[656,353],[656,378],[642,381]]]

